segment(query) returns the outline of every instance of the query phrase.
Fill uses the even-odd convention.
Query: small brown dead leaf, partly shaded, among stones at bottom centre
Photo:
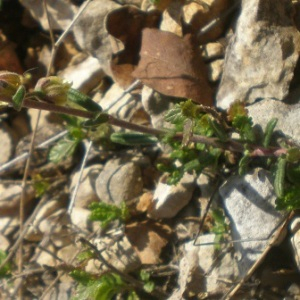
[[[158,222],[147,220],[134,222],[125,228],[125,234],[137,252],[142,264],[157,264],[162,249],[171,236],[171,228]]]

